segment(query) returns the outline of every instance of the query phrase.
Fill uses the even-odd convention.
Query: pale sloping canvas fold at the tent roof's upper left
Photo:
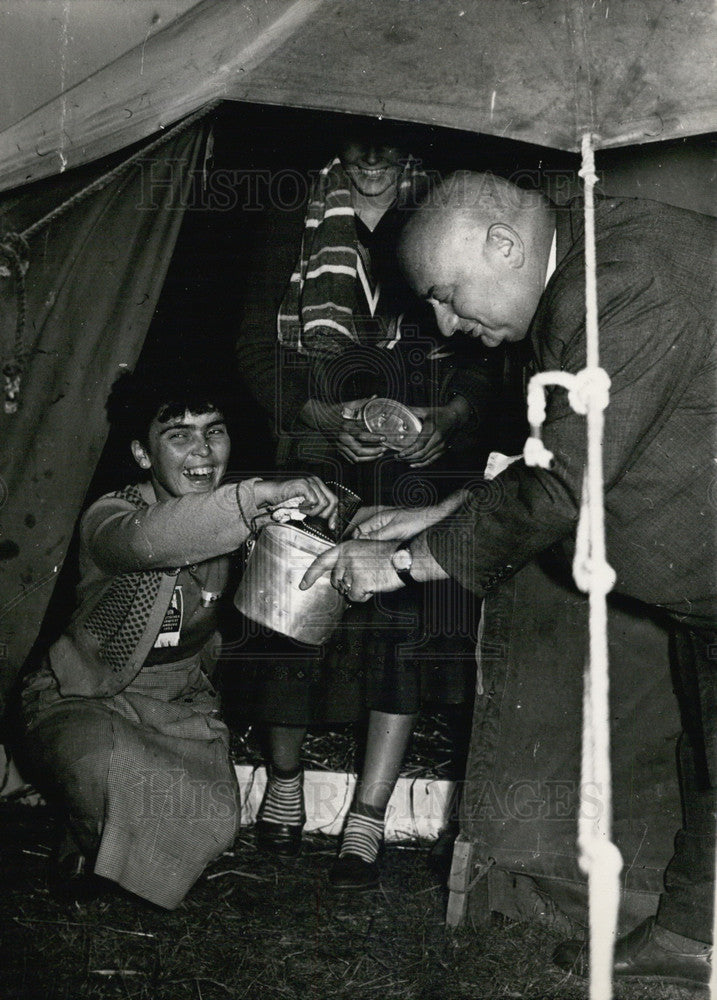
[[[0,133],[0,190],[98,159],[222,97],[321,0],[201,0]]]

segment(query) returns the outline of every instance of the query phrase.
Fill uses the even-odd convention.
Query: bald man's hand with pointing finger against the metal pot
[[[395,548],[395,542],[342,542],[314,560],[299,588],[308,590],[330,572],[331,586],[350,601],[364,602],[374,594],[400,590],[403,583],[391,565]]]

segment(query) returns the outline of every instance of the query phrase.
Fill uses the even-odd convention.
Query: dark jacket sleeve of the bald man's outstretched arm
[[[700,364],[704,340],[694,335],[699,317],[666,285],[632,263],[599,269],[601,364],[612,381],[603,460],[608,501],[611,489],[660,433]],[[585,366],[586,352],[582,270],[544,298],[533,328],[539,368],[575,373]],[[428,532],[443,569],[477,594],[575,530],[586,426],[562,389],[550,391],[544,438],[555,456],[549,471],[514,463],[485,484],[482,495]]]

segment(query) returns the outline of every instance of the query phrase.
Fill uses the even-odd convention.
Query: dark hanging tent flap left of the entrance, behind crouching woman
[[[30,360],[19,411],[0,412],[0,712],[102,451],[110,388],[144,342],[203,134],[195,126],[169,139],[30,240]],[[21,201],[0,205],[3,228],[26,215]],[[12,284],[0,281],[0,310],[14,316]]]

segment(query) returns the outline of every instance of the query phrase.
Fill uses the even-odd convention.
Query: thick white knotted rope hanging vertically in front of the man
[[[595,255],[595,156],[589,133],[582,141],[585,188],[585,331],[586,367],[576,375],[542,372],[528,386],[530,437],[523,457],[527,465],[550,468],[552,454],[543,444],[545,390],[561,386],[576,413],[587,416],[587,466],[583,480],[573,575],[589,595],[590,652],[585,668],[583,749],[578,817],[579,863],[588,877],[590,907],[590,1000],[612,1000],[612,966],[617,936],[622,858],[611,841],[612,776],[610,768],[610,706],[607,642],[607,594],[615,573],[605,556],[602,441],[604,410],[610,379],[600,368],[597,266]],[[590,815],[590,802],[599,797],[602,810]],[[717,1000],[717,998],[716,998]]]

